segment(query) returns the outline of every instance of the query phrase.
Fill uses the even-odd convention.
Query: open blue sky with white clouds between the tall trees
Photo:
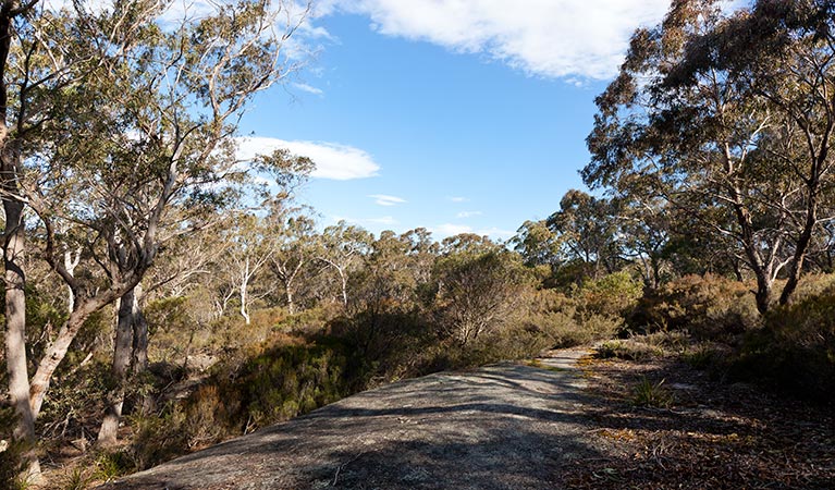
[[[593,99],[666,7],[331,0],[306,27],[317,56],[256,99],[242,146],[311,157],[298,200],[322,225],[508,238],[582,186]]]

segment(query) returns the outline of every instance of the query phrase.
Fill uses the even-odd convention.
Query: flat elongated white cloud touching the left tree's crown
[[[269,155],[287,148],[294,155],[310,158],[316,163],[311,176],[347,181],[374,176],[380,166],[366,151],[353,146],[323,142],[285,142],[260,136],[237,138],[240,160],[251,160],[256,155]]]

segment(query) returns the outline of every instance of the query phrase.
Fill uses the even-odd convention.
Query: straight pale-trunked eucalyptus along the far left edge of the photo
[[[19,422],[13,437],[29,448],[24,455],[28,471],[37,477],[40,467],[35,453],[35,416],[29,409],[26,358],[26,252],[24,215],[26,197],[21,188],[28,144],[40,138],[39,127],[53,114],[29,103],[46,89],[73,84],[61,58],[40,63],[44,42],[37,36],[40,22],[37,0],[3,0],[0,3],[0,200],[3,206],[3,266],[5,365],[9,400]]]

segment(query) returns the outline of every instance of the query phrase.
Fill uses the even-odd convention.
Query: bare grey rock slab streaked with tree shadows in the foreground
[[[588,445],[576,362],[441,372],[344,399],[108,489],[554,489]]]

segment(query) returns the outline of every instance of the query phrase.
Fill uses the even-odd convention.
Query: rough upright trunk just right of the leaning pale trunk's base
[[[110,369],[112,387],[108,393],[108,406],[101,421],[97,444],[102,448],[115,445],[119,436],[119,421],[125,400],[125,382],[131,366],[134,333],[134,314],[136,311],[136,290],[122,295],[119,301],[119,321],[116,322],[113,365]]]

